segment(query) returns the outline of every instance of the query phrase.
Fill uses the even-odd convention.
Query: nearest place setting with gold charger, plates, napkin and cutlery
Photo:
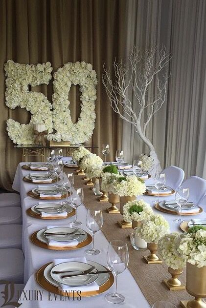
[[[56,259],[37,271],[36,281],[54,294],[69,296],[69,290],[75,288],[81,291],[81,297],[90,297],[109,290],[114,275],[107,267],[86,258]]]

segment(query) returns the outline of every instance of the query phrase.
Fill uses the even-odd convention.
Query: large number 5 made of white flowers
[[[48,84],[51,79],[51,63],[29,65],[9,60],[4,65],[6,75],[6,105],[10,109],[17,106],[30,111],[29,124],[20,124],[12,119],[7,120],[7,131],[15,144],[33,144],[33,124],[44,123],[48,132],[52,132],[52,105],[43,93],[29,92],[28,85]]]

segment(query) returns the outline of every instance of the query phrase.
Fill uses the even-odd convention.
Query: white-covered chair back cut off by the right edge
[[[194,202],[199,205],[200,200],[206,194],[206,180],[193,175],[186,179],[182,185],[184,188],[189,188],[189,202]]]

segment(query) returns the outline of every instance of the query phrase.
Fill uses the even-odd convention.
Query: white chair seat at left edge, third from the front
[[[0,225],[21,224],[22,210],[17,206],[0,207]]]

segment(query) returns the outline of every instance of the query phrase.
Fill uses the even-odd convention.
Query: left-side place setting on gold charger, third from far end
[[[29,197],[41,200],[59,200],[67,198],[67,190],[64,187],[38,186],[30,190]]]

